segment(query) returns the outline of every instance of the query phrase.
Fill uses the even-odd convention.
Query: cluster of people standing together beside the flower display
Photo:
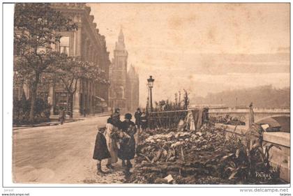
[[[107,124],[103,128],[98,128],[96,143],[93,151],[93,159],[97,160],[97,174],[105,174],[101,167],[101,162],[107,159],[106,167],[114,169],[113,163],[117,163],[118,158],[122,161],[122,167],[130,169],[133,167],[130,160],[135,157],[135,133],[137,130],[147,128],[147,116],[145,112],[137,109],[135,112],[135,123],[131,121],[132,114],[126,113],[124,121],[120,120],[120,110],[107,119]]]

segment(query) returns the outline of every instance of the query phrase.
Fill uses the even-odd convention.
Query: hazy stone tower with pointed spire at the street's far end
[[[109,105],[119,107],[122,112],[133,112],[139,102],[139,78],[133,66],[128,70],[128,52],[124,43],[122,29],[114,49],[114,58],[110,67],[110,98]]]

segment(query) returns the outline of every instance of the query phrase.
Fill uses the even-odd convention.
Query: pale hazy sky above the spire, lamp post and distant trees
[[[128,65],[153,99],[225,89],[290,85],[289,3],[89,3],[112,59],[122,27]]]

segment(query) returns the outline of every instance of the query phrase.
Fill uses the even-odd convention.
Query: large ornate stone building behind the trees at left
[[[105,78],[109,80],[110,59],[107,52],[105,36],[100,35],[90,15],[91,8],[86,3],[52,3],[52,7],[61,11],[78,24],[77,31],[63,31],[60,43],[54,50],[64,52],[69,56],[80,56],[83,61],[91,61],[105,70]],[[73,96],[73,115],[84,112],[94,114],[107,107],[109,84],[101,84],[89,80],[79,80],[77,91]],[[29,88],[24,86],[24,93],[29,98]],[[15,86],[14,96],[20,98],[22,88]],[[47,100],[52,105],[51,114],[58,114],[60,107],[67,107],[68,93],[59,83],[49,86],[39,86],[38,97]],[[104,108],[102,109],[102,107]]]

